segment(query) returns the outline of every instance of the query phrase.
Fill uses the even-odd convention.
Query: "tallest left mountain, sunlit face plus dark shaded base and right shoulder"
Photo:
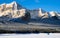
[[[0,5],[0,21],[24,22],[30,19],[28,10],[15,1]]]

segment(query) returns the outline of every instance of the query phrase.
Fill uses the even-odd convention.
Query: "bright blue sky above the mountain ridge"
[[[42,8],[45,11],[60,12],[60,0],[0,0],[0,4],[10,3],[12,1],[16,1],[27,9]]]

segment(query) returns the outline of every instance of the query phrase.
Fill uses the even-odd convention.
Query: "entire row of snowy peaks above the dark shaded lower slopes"
[[[9,16],[10,18],[18,18],[25,16],[26,12],[29,12],[31,14],[31,18],[36,17],[49,18],[50,16],[52,17],[57,15],[57,13],[54,11],[46,12],[42,8],[29,11],[29,9],[24,8],[15,1],[9,4],[4,3],[0,5],[0,16]]]

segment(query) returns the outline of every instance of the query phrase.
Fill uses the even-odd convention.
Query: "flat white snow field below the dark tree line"
[[[0,34],[0,38],[60,38],[60,33]]]

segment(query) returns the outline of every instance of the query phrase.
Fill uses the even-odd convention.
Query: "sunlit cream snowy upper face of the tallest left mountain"
[[[16,3],[15,1],[10,4],[0,5],[0,16],[9,16],[10,18],[18,18],[24,16],[26,9]]]

